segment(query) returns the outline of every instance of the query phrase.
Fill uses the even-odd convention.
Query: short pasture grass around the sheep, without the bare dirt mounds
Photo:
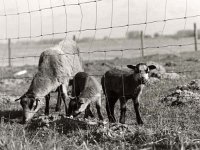
[[[128,102],[126,123],[129,128],[120,130],[120,136],[115,136],[113,130],[103,127],[71,128],[67,124],[57,123],[50,127],[33,127],[19,122],[21,107],[18,103],[4,102],[0,98],[0,149],[19,150],[61,150],[61,149],[199,149],[200,148],[200,109],[191,104],[182,107],[170,107],[161,103],[161,98],[170,93],[172,88],[200,78],[199,52],[177,55],[154,55],[143,59],[113,59],[107,60],[111,65],[120,66],[136,64],[140,61],[155,61],[165,66],[167,72],[179,72],[183,78],[179,80],[161,80],[159,83],[145,88],[141,97],[141,114],[143,126],[136,124],[132,101]],[[108,67],[104,61],[85,61],[85,70],[91,74],[103,74]],[[16,71],[29,69],[31,76],[36,68],[32,66],[1,68],[2,76]],[[188,72],[191,71],[191,72]],[[98,77],[99,79],[99,77]],[[26,90],[30,81],[5,86],[0,84],[1,93],[7,96],[20,96]],[[14,86],[13,86],[14,85]],[[10,90],[12,89],[12,90]],[[17,96],[16,96],[17,95]],[[51,105],[53,113],[54,103]],[[41,110],[37,115],[41,115]],[[119,103],[116,106],[116,118],[119,119]],[[103,99],[103,115],[105,101]],[[110,133],[112,136],[109,136]]]

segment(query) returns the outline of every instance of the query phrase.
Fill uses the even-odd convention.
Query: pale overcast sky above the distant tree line
[[[124,37],[127,31],[144,30],[153,35],[173,34],[177,30],[192,29],[193,23],[200,26],[200,17],[171,20],[166,24],[161,22],[143,23],[167,20],[178,17],[200,15],[200,0],[0,0],[0,39],[38,36],[41,34],[64,33],[79,29],[97,29],[110,26],[129,28],[113,28],[112,30],[83,31],[81,37],[105,36]],[[82,3],[81,5],[72,5]],[[66,7],[62,6],[66,5]],[[41,12],[10,15],[45,9]],[[112,11],[113,10],[113,11]],[[7,17],[3,16],[7,14]],[[132,25],[140,24],[141,25]],[[112,32],[111,32],[112,31]],[[71,33],[79,35],[78,33]],[[65,34],[55,35],[61,37]]]

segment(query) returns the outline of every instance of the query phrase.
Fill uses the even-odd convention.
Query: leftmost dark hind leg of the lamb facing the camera
[[[116,97],[107,97],[106,111],[107,111],[109,122],[111,122],[111,123],[116,122],[115,115],[114,115],[114,109],[115,109],[116,102],[117,102]]]

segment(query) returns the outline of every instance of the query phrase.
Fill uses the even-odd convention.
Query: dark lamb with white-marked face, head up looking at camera
[[[101,79],[104,94],[106,95],[106,111],[110,122],[116,122],[114,116],[114,107],[120,99],[120,123],[125,123],[126,103],[132,99],[134,103],[136,119],[138,124],[143,124],[139,111],[139,98],[142,89],[148,82],[148,74],[154,65],[147,66],[145,63],[139,63],[136,66],[127,65],[132,71],[123,71],[111,69],[105,73]]]

